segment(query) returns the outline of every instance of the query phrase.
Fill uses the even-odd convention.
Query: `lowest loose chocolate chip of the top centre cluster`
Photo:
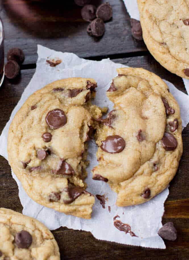
[[[92,23],[90,23],[90,25],[88,26],[87,31],[89,32],[89,34],[92,34],[96,37],[102,36],[105,32],[103,20],[100,18],[94,19]]]

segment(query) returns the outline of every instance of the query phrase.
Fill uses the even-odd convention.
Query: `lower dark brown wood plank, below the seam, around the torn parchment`
[[[155,72],[162,78],[169,80],[175,86],[186,92],[182,79],[171,74],[161,67],[150,55],[142,57],[124,58],[114,60],[127,66],[141,67]],[[20,96],[29,83],[34,69],[22,70],[20,76],[9,81],[5,79],[0,88],[0,133],[9,120],[11,111],[20,99]],[[189,127],[182,133],[184,153],[180,161],[178,172],[170,184],[170,194],[165,202],[165,214],[163,223],[173,221],[178,230],[178,239],[174,242],[165,241],[167,249],[146,249],[131,247],[107,241],[99,241],[90,232],[78,231],[61,227],[53,231],[59,244],[61,257],[65,260],[76,259],[147,259],[147,260],[185,260],[189,254],[189,190],[188,190],[188,162],[189,162]],[[8,162],[0,157],[0,207],[7,207],[22,212],[22,206],[18,198],[18,187],[11,176]],[[136,217],[136,216],[134,216]]]

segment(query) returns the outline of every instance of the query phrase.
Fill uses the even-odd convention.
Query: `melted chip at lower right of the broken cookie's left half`
[[[81,194],[87,194],[88,192],[80,187],[66,187],[63,189],[63,202],[65,204],[72,203]]]

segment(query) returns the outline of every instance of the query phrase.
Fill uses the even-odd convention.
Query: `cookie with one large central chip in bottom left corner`
[[[59,260],[53,234],[41,222],[0,208],[0,259]]]

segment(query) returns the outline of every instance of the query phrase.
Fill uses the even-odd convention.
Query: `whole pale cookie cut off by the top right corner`
[[[186,0],[137,0],[143,38],[167,70],[189,79],[189,4]]]

